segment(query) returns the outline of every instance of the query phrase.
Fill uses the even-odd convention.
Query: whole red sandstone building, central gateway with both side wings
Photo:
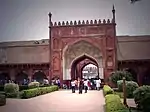
[[[82,77],[82,68],[92,63],[105,81],[111,72],[130,68],[140,82],[149,70],[149,47],[150,36],[116,36],[113,10],[112,20],[51,23],[49,39],[0,43],[0,75],[15,80],[24,73],[31,81],[38,72],[64,82]]]

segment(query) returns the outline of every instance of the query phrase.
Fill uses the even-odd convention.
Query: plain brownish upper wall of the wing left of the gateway
[[[39,43],[37,43],[39,42]],[[49,45],[41,41],[29,41],[20,44],[9,42],[0,44],[0,63],[47,63]]]

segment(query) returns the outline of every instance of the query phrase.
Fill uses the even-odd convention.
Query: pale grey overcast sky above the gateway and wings
[[[150,0],[0,0],[0,41],[48,38],[48,12],[53,21],[112,18],[117,35],[150,35]]]

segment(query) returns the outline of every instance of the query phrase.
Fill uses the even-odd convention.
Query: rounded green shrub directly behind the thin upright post
[[[123,92],[123,80],[117,81],[118,91]],[[138,84],[134,81],[126,81],[126,94],[128,98],[133,98],[133,91],[138,88]]]

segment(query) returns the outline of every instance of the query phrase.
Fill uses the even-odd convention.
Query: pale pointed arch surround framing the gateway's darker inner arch
[[[71,66],[73,62],[81,57],[86,56],[91,60],[95,60],[99,67],[102,67],[102,53],[99,48],[92,45],[87,41],[81,40],[77,43],[68,46],[63,55],[63,79],[70,80],[71,79]],[[82,60],[80,60],[82,61]]]

